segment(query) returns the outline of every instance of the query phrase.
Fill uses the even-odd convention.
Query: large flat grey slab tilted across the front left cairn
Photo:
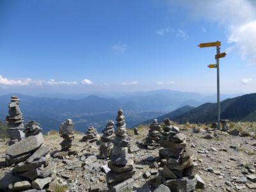
[[[36,148],[40,147],[42,143],[44,143],[44,136],[42,133],[39,133],[35,136],[29,136],[24,140],[20,140],[17,143],[8,146],[6,148],[6,154],[9,156],[19,156],[20,154],[35,150]]]

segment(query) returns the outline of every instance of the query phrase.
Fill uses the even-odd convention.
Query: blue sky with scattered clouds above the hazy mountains
[[[0,93],[255,92],[253,1],[0,0]],[[253,35],[254,34],[254,35]]]

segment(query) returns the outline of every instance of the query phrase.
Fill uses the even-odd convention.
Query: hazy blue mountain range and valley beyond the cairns
[[[199,93],[172,90],[125,94],[102,93],[102,97],[87,95],[81,99],[77,99],[79,97],[75,94],[65,95],[65,97],[76,96],[76,99],[63,99],[12,93],[0,96],[0,120],[2,121],[8,114],[8,103],[11,95],[17,95],[20,98],[20,109],[25,122],[36,120],[44,131],[50,131],[58,129],[65,119],[72,118],[76,124],[76,130],[81,132],[84,132],[91,125],[101,131],[108,120],[115,120],[118,108],[124,110],[127,127],[132,127],[155,116],[164,115],[167,111],[180,108],[184,104],[195,107],[202,104],[202,100],[205,100],[205,96]],[[111,95],[115,95],[115,97],[110,97]],[[225,95],[225,97],[228,96]],[[170,117],[175,118],[175,116],[187,112],[188,109],[191,108],[187,106],[173,111]]]

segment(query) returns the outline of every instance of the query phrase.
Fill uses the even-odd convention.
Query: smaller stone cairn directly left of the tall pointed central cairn
[[[106,159],[111,155],[111,151],[113,148],[112,140],[115,137],[114,134],[114,122],[112,120],[109,120],[106,128],[102,131],[103,135],[101,136],[100,140],[100,159]]]

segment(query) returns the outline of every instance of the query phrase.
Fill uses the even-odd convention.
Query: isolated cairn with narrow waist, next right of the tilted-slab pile
[[[59,133],[63,141],[60,143],[61,150],[54,154],[54,157],[63,157],[76,154],[76,145],[74,141],[74,124],[71,119],[67,119],[59,127]]]

